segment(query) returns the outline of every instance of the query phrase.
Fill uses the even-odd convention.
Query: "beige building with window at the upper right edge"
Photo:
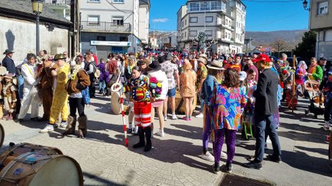
[[[315,57],[332,61],[332,1],[311,0],[309,28],[317,32]]]

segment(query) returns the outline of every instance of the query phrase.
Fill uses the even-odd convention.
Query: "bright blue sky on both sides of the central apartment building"
[[[176,30],[176,12],[187,1],[150,1],[150,28]],[[245,0],[243,3],[247,6],[246,31],[308,29],[309,12],[304,10],[302,0]]]

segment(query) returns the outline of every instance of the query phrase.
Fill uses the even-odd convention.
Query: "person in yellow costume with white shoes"
[[[39,131],[39,133],[47,133],[54,131],[54,126],[59,114],[61,113],[62,122],[59,127],[66,127],[68,119],[68,93],[66,91],[66,82],[68,81],[69,64],[65,61],[66,57],[62,54],[57,54],[54,60],[58,68],[53,68],[51,73],[55,78],[56,85],[53,93],[52,106],[50,106],[50,119],[46,127]]]

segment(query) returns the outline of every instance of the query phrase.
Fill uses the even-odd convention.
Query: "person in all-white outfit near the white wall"
[[[42,121],[38,118],[40,99],[37,92],[37,84],[39,77],[37,76],[37,57],[33,53],[26,56],[28,63],[21,66],[21,75],[24,77],[23,99],[21,101],[21,109],[17,116],[16,122],[22,122],[31,105],[30,120]]]

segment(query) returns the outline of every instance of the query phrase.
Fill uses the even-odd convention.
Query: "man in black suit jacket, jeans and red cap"
[[[257,84],[257,90],[253,93],[255,102],[255,130],[256,130],[256,149],[255,160],[246,163],[246,167],[261,169],[264,158],[264,146],[266,134],[270,136],[273,145],[273,154],[268,155],[268,159],[274,162],[281,162],[282,150],[280,148],[279,137],[277,134],[277,124],[273,115],[277,114],[277,91],[279,79],[277,73],[271,70],[270,57],[261,54],[252,62],[257,62],[257,68],[261,71]]]

